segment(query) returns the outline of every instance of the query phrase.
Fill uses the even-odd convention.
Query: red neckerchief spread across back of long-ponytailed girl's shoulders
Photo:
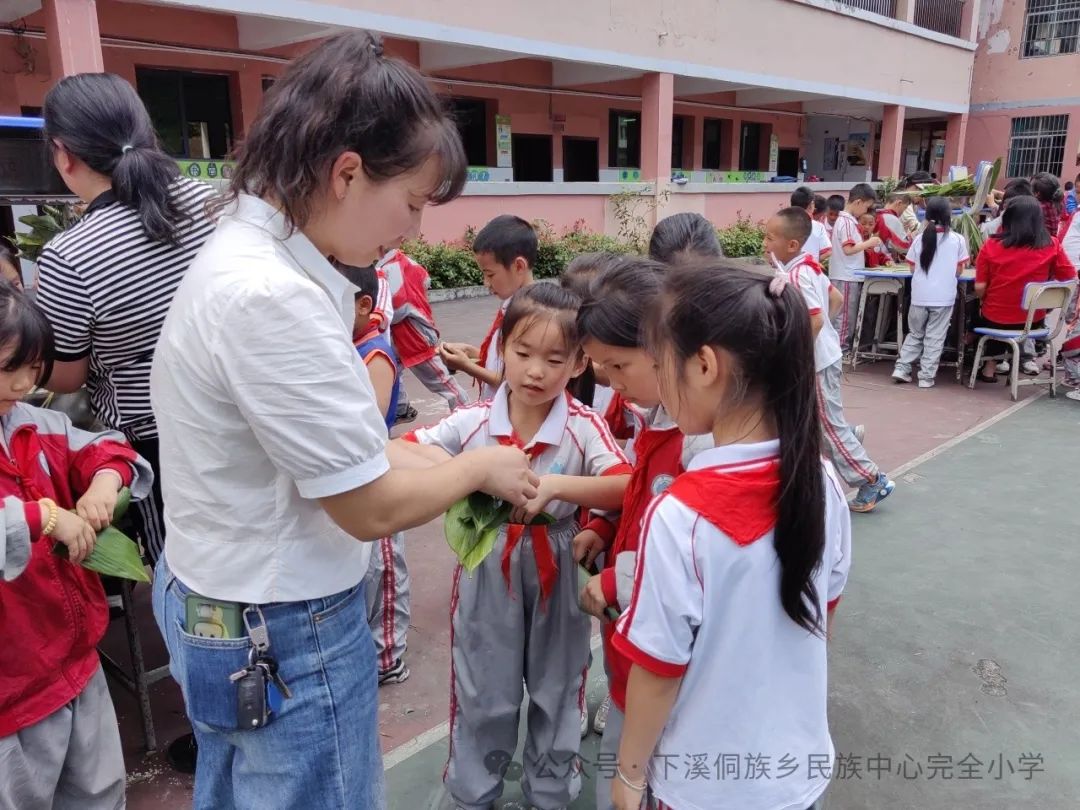
[[[667,491],[738,545],[750,545],[777,525],[780,461],[693,470],[676,478]]]

